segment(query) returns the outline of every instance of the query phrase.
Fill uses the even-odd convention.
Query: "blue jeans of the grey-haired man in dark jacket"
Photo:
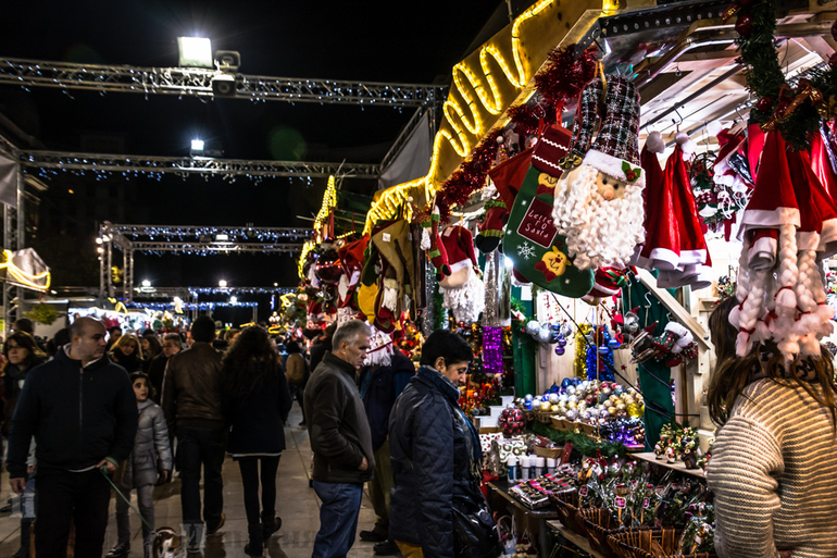
[[[314,492],[323,504],[311,558],[346,558],[358,531],[363,484],[314,481]]]

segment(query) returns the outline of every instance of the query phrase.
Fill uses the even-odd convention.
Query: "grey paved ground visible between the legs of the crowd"
[[[314,537],[320,529],[320,500],[313,488],[309,488],[309,467],[311,463],[311,447],[308,432],[297,426],[301,420],[299,407],[295,404],[285,429],[285,439],[288,448],[279,461],[277,479],[276,512],[282,517],[282,530],[274,535],[267,546],[265,556],[272,558],[309,558]],[[9,479],[3,473],[0,485],[0,500],[4,504],[9,496]],[[154,509],[157,525],[177,526],[180,522],[179,481],[175,480],[154,491]],[[115,498],[115,496],[114,496]],[[111,521],[104,537],[104,551],[108,551],[116,541],[116,524],[113,519],[114,498],[111,498]],[[136,495],[133,498],[136,505]],[[246,557],[247,519],[241,492],[241,478],[238,466],[230,459],[224,462],[224,511],[226,524],[220,535],[209,537],[203,553],[205,558]],[[368,496],[364,493],[361,505],[358,531],[372,529],[375,512]],[[20,547],[18,518],[8,513],[0,514],[0,558],[10,557]],[[142,556],[140,521],[132,517],[134,536],[132,538],[130,556]],[[349,553],[350,558],[368,558],[374,556],[372,543],[357,540]]]

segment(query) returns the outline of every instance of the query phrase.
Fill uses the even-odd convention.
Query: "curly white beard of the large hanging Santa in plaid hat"
[[[624,197],[607,201],[596,190],[598,174],[585,165],[572,184],[559,181],[552,218],[566,236],[573,265],[625,268],[635,247],[645,241],[642,186],[622,183]]]

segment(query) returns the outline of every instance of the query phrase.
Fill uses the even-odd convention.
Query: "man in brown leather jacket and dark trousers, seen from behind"
[[[226,521],[221,469],[227,443],[222,411],[224,380],[221,354],[212,348],[215,323],[208,315],[191,325],[195,343],[168,359],[163,381],[162,406],[168,431],[177,435],[177,469],[180,471],[180,506],[189,551],[200,551],[205,534],[218,532]],[[203,467],[203,521],[200,481]]]

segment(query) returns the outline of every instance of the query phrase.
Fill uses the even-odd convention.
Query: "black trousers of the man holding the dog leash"
[[[75,522],[76,558],[101,558],[111,485],[98,469],[50,472],[35,479],[38,558],[66,558],[70,522]]]

